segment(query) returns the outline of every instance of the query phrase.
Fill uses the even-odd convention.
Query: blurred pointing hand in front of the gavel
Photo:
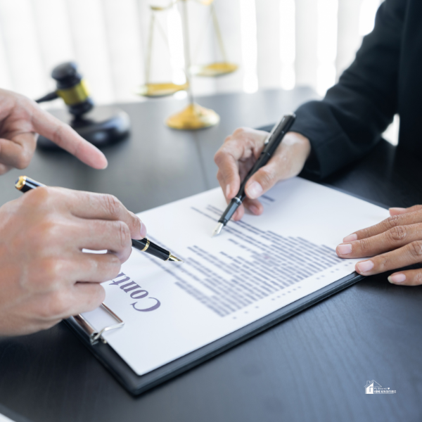
[[[51,139],[91,167],[107,167],[104,154],[68,124],[60,122],[29,98],[0,89],[0,174],[13,167],[24,169],[30,164],[37,134]]]

